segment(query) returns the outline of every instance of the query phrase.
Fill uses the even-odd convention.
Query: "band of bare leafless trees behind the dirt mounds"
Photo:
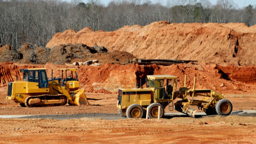
[[[154,21],[171,23],[256,23],[256,9],[238,9],[233,0],[173,0],[153,4],[150,0],[116,0],[104,6],[100,0],[71,3],[55,0],[0,0],[0,44],[15,49],[23,43],[45,46],[55,33],[67,29],[113,31],[126,25],[145,26]]]

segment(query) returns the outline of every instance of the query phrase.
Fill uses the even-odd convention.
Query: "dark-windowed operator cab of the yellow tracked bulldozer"
[[[48,87],[46,69],[20,69],[20,73],[23,73],[23,81],[38,83],[39,89]]]

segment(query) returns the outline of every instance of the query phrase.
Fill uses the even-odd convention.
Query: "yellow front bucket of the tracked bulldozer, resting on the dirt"
[[[79,105],[90,105],[89,101],[87,100],[84,90],[76,90],[74,91],[74,97],[72,98],[72,101],[74,102],[75,106]],[[73,95],[71,94],[71,95]]]

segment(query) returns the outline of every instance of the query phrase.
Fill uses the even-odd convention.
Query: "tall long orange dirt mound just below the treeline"
[[[66,43],[104,46],[110,52],[126,51],[143,59],[198,60],[199,64],[253,66],[256,63],[256,27],[244,23],[169,23],[153,22],[125,26],[115,31],[78,32],[66,30],[55,34],[46,47]]]

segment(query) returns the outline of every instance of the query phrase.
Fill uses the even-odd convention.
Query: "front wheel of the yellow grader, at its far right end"
[[[229,115],[232,109],[232,103],[227,99],[221,99],[217,102],[216,111],[218,115]]]

